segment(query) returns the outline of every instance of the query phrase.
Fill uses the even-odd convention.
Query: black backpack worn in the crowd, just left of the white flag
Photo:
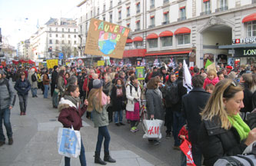
[[[176,82],[171,83],[171,85],[165,86],[165,101],[170,103],[171,105],[175,105],[178,103],[178,84]]]

